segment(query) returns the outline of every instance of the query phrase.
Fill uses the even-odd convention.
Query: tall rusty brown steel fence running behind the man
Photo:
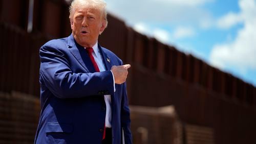
[[[0,91],[7,95],[18,91],[25,93],[23,97],[28,94],[38,99],[39,47],[50,39],[71,34],[68,4],[61,0],[34,0],[31,33],[27,32],[29,0],[3,0],[0,7]],[[99,42],[124,63],[132,65],[127,78],[130,104],[173,105],[182,123],[193,125],[188,127],[189,132],[194,126],[207,127],[212,130],[215,143],[256,142],[256,88],[253,85],[193,55],[179,52],[174,46],[140,34],[113,15],[109,15],[108,20],[109,26],[100,35]],[[20,99],[20,103],[39,106],[34,98]],[[27,100],[31,103],[25,103]],[[7,103],[17,109],[24,108],[7,101],[1,94],[0,109],[4,109],[5,114],[1,111],[0,124],[16,118],[13,114],[3,119],[11,109]],[[23,114],[38,115],[37,106],[34,111],[26,108]],[[37,119],[33,119],[33,123],[37,123]],[[16,120],[10,121],[13,127],[23,122]],[[0,142],[4,130],[8,129],[2,126]],[[30,129],[29,134],[34,136]]]

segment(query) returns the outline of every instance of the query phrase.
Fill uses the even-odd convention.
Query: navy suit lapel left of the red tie
[[[86,50],[84,50],[84,47],[76,43],[72,34],[68,37],[68,46],[69,51],[76,58],[76,60],[83,66],[83,68],[90,73],[94,73],[95,69],[93,67],[90,57],[88,56]]]

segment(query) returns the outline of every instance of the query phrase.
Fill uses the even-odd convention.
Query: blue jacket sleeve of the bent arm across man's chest
[[[63,50],[62,47],[57,44],[45,44],[40,48],[41,84],[61,99],[113,94],[113,76],[110,70],[74,73],[67,59],[69,51]]]

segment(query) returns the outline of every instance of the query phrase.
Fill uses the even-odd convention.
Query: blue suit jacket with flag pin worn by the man
[[[122,61],[101,46],[99,50],[106,71],[95,73],[90,57],[72,34],[40,48],[41,113],[34,143],[100,144],[104,94],[111,94],[113,143],[122,143],[122,130],[125,144],[132,143],[126,84],[116,84],[114,92],[110,71]]]

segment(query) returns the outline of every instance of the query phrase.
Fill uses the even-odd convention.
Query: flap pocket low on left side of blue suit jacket
[[[72,133],[73,125],[58,122],[49,122],[46,125],[46,133]]]

